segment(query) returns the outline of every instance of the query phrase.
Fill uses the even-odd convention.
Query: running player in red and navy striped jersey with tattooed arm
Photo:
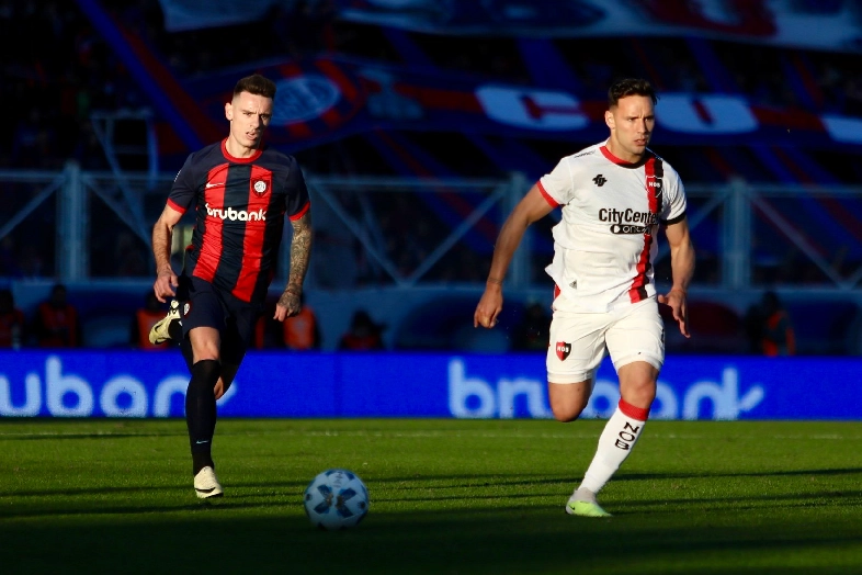
[[[283,322],[302,307],[311,249],[310,203],[296,160],[262,145],[275,89],[260,75],[237,82],[225,104],[228,136],[189,156],[152,228],[154,291],[159,301],[173,297],[179,305],[172,302],[150,340],[168,339],[169,328],[182,325],[179,337],[192,373],[185,420],[200,498],[223,494],[212,459],[216,399],[234,381],[263,311],[285,218],[293,226],[291,266],[274,318]],[[192,206],[192,245],[178,278],[170,264],[171,235]]]

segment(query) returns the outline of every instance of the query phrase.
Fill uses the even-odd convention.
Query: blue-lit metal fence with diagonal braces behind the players
[[[150,229],[172,180],[167,173],[82,171],[75,164],[59,172],[0,171],[0,277],[66,283],[150,278]],[[316,230],[310,289],[481,284],[500,225],[532,183],[521,174],[500,180],[307,174],[307,181]],[[858,290],[862,188],[731,181],[689,184],[687,193],[699,285]],[[555,217],[524,238],[510,286],[546,283],[543,269],[553,249],[546,232]],[[180,223],[178,251],[191,224]],[[659,281],[670,278],[661,245]],[[281,277],[287,257],[283,249]]]

